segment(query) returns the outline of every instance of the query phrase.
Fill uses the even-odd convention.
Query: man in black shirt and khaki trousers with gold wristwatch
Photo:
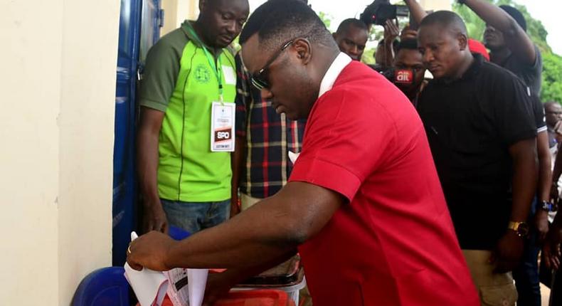
[[[450,11],[423,19],[418,45],[434,77],[418,111],[460,246],[482,305],[514,305],[509,271],[521,258],[538,172],[529,93],[470,53],[465,23]]]

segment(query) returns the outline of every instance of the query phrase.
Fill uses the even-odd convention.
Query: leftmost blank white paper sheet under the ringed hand
[[[137,237],[137,233],[131,233],[131,241]],[[137,271],[131,268],[128,263],[125,263],[124,269],[125,278],[133,288],[141,306],[159,306],[162,304],[168,289],[168,279],[163,273],[149,269]]]

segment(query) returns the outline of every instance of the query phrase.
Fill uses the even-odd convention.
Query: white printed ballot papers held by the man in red
[[[131,240],[137,234],[131,233]],[[124,265],[125,278],[141,306],[161,306],[166,294],[174,306],[201,306],[207,283],[207,269],[176,268],[159,272],[144,268],[134,270]]]

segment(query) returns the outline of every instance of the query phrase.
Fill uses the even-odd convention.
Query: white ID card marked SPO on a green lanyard
[[[191,34],[197,37],[197,33],[190,28]],[[223,102],[223,71],[221,70],[221,56],[215,58],[200,41],[203,52],[211,65],[211,70],[218,82],[218,102],[211,105],[211,152],[234,152],[235,144],[235,103]]]

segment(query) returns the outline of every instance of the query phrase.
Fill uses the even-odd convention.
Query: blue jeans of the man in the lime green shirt
[[[230,199],[218,202],[182,202],[160,199],[170,226],[197,233],[230,217]]]

